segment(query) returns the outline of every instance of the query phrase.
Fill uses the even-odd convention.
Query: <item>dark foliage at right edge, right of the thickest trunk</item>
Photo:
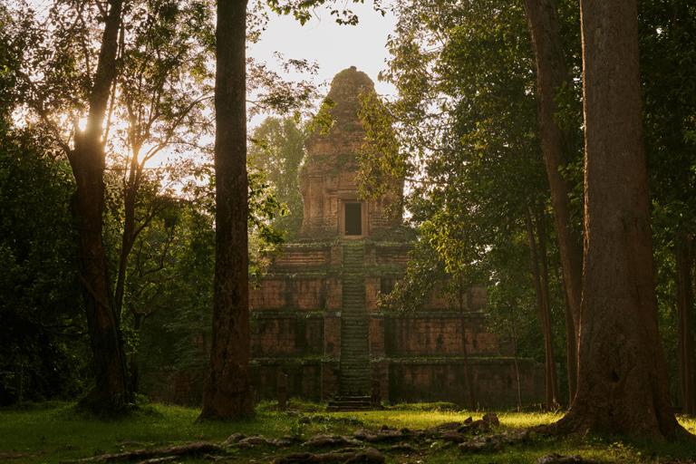
[[[696,127],[696,8],[681,0],[638,2],[638,8],[656,292],[672,398],[679,404],[675,256],[696,232],[696,140],[691,137]],[[694,309],[689,308],[691,314]]]

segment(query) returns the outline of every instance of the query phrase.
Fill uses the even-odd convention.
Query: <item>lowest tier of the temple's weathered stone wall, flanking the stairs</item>
[[[523,404],[543,403],[545,366],[529,359],[517,360]],[[474,395],[480,407],[517,405],[515,362],[512,358],[471,358]],[[250,364],[255,401],[277,400],[277,372],[288,376],[288,397],[326,400],[338,391],[339,363],[319,359],[256,360]],[[371,362],[372,380],[380,382],[383,401],[449,401],[469,405],[464,362],[450,359],[391,359]]]

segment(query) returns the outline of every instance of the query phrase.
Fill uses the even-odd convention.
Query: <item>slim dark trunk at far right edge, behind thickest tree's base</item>
[[[691,267],[693,247],[691,240],[677,250],[677,314],[679,331],[679,381],[680,400],[685,414],[694,414],[693,387],[693,289],[691,288]]]

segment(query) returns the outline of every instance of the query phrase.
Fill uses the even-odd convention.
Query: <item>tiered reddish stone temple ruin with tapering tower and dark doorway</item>
[[[417,311],[385,314],[377,306],[403,275],[412,249],[401,218],[384,218],[395,198],[358,198],[356,152],[365,137],[357,111],[372,80],[355,67],[333,79],[330,133],[306,141],[301,174],[302,232],[284,247],[250,290],[251,385],[256,400],[277,399],[279,372],[287,395],[320,401],[370,394],[379,381],[387,401],[467,402],[462,331],[477,400],[517,403],[514,363],[499,357],[498,337],[483,328],[484,287],[469,289],[468,313],[430,295]],[[520,360],[522,399],[543,401],[544,366]]]

